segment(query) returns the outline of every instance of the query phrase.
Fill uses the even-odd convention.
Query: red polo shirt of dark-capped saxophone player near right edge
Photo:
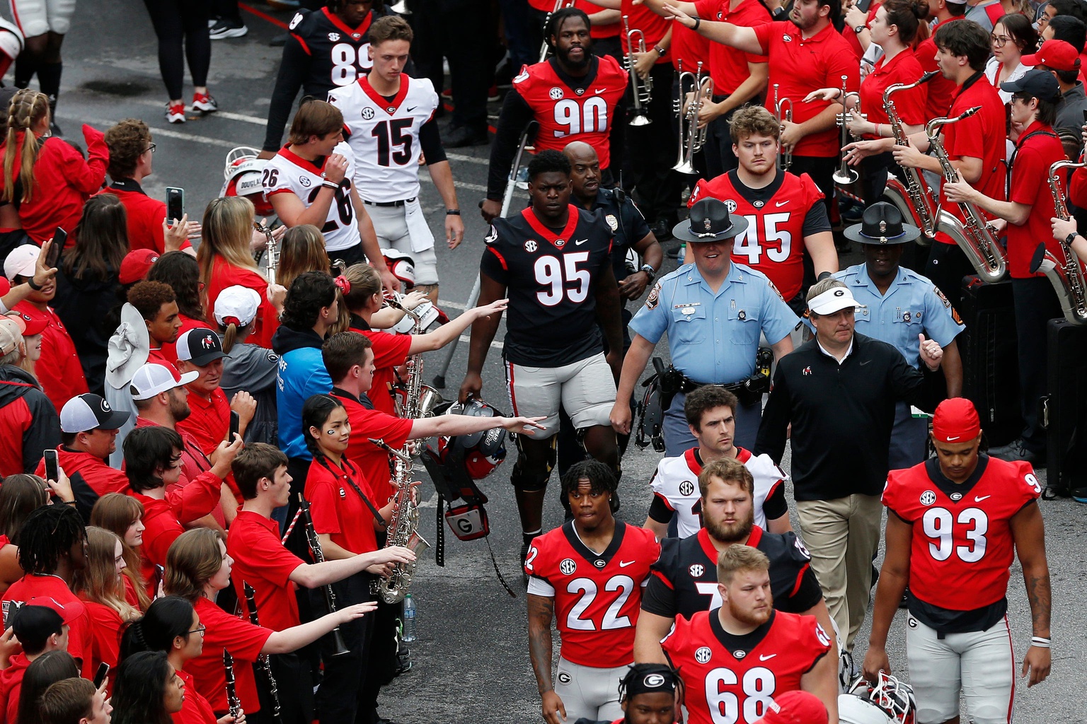
[[[1040,132],[1039,132],[1040,131]],[[1012,156],[1012,178],[1008,201],[1032,206],[1026,224],[1008,225],[1008,274],[1012,279],[1041,276],[1030,274],[1030,258],[1042,241],[1057,258],[1064,258],[1061,244],[1053,239],[1049,219],[1055,216],[1053,194],[1046,179],[1050,164],[1064,160],[1064,147],[1051,126],[1035,120],[1026,127]]]

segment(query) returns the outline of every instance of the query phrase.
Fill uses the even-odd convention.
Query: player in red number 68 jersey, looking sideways
[[[714,568],[720,608],[680,618],[662,642],[683,678],[690,724],[754,724],[774,697],[796,690],[819,697],[837,722],[830,636],[814,617],[774,609],[766,555],[736,545]]]

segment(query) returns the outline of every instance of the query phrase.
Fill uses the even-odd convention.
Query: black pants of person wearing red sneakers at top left
[[[211,39],[208,37],[207,0],[143,0],[159,38],[159,72],[171,100],[182,98],[185,64],[189,61],[193,86],[208,85]]]

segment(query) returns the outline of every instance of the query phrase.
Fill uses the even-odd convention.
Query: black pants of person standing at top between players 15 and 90
[[[411,15],[415,25],[412,59],[418,74],[429,78],[439,93],[445,86],[442,58],[449,59],[453,91],[452,125],[487,132],[487,90],[493,79],[493,37],[479,27],[491,16],[486,0],[421,0]]]

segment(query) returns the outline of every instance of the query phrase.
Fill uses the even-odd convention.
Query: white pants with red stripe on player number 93
[[[907,618],[905,653],[919,724],[959,715],[959,693],[974,724],[1010,724],[1015,696],[1015,655],[1008,617],[987,631],[937,636]]]

